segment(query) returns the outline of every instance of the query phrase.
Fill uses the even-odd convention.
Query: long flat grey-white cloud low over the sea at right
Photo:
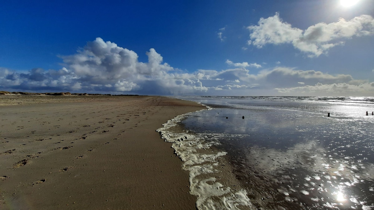
[[[200,74],[204,74],[205,78],[209,80],[202,79],[201,81],[205,86],[208,87],[220,87],[222,86],[222,81],[216,81],[215,78],[224,78],[224,81],[232,82],[240,80],[240,83],[246,86],[246,91],[243,94],[248,95],[248,93],[259,94],[266,90],[267,94],[271,93],[271,90],[276,90],[276,93],[287,93],[286,91],[281,92],[280,90],[292,90],[296,88],[295,81],[298,85],[314,86],[317,83],[322,84],[338,84],[346,83],[352,86],[358,86],[360,84],[368,84],[367,80],[355,80],[351,75],[346,74],[327,74],[321,71],[314,70],[294,70],[292,68],[273,68],[271,70],[261,70],[257,74],[249,74],[249,71],[245,68],[235,68],[223,71],[204,71],[200,70]],[[255,85],[254,85],[255,84]],[[255,89],[253,89],[255,88]],[[224,90],[224,89],[223,89]],[[297,93],[297,90],[293,93]],[[304,90],[303,90],[304,91]],[[209,92],[209,91],[208,91]],[[329,92],[331,95],[334,91]],[[365,92],[367,93],[367,92]],[[340,92],[337,92],[340,94]],[[292,94],[291,94],[292,95]]]

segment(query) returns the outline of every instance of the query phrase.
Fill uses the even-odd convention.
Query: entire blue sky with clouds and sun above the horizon
[[[0,90],[374,96],[373,0],[0,5]]]

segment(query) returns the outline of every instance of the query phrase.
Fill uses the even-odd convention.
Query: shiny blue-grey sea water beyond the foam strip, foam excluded
[[[365,115],[373,104],[203,101],[225,106],[197,113],[183,124],[221,143],[217,148],[228,152],[255,206],[373,208],[374,117]],[[324,117],[327,112],[331,117]]]

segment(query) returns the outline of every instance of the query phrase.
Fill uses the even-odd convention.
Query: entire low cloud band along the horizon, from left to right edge
[[[139,62],[134,51],[96,38],[76,54],[61,56],[64,67],[59,70],[18,72],[0,68],[0,90],[144,95],[310,95],[324,91],[330,95],[371,95],[374,87],[374,83],[351,75],[315,70],[276,67],[251,73],[246,68],[261,65],[230,60],[226,61],[233,66],[230,69],[187,72],[164,62],[155,49],[146,55],[148,62]]]

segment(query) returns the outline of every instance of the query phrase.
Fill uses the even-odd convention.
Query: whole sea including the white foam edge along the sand
[[[207,106],[158,130],[198,209],[374,209],[374,97],[177,98]]]

